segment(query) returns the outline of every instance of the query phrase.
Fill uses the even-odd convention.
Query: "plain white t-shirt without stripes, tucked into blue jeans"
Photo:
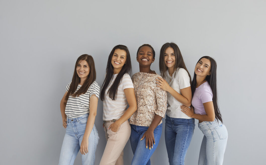
[[[189,75],[184,68],[177,68],[176,74],[173,73],[172,77],[169,75],[168,71],[166,71],[165,80],[179,94],[181,94],[180,89],[190,86]],[[181,111],[180,105],[182,104],[177,101],[169,92],[167,92],[167,103],[167,116],[171,118],[191,119],[188,115]]]

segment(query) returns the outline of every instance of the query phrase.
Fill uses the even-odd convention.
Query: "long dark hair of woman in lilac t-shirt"
[[[211,74],[207,75],[205,80],[208,81],[208,83],[209,83],[209,85],[211,87],[211,91],[213,92],[213,106],[214,106],[215,119],[217,119],[217,120],[219,119],[223,123],[222,115],[221,115],[221,112],[220,112],[219,106],[218,106],[218,97],[217,97],[217,87],[216,87],[216,68],[217,68],[217,64],[216,64],[216,61],[213,58],[209,57],[209,56],[201,57],[198,60],[198,62],[202,58],[206,58],[206,59],[210,60],[210,62],[211,62],[211,70],[210,70]],[[192,98],[193,98],[193,95],[195,93],[196,85],[197,85],[196,77],[197,77],[197,75],[196,75],[196,73],[194,71],[194,76],[193,76],[193,80],[192,80],[192,84],[191,84]]]

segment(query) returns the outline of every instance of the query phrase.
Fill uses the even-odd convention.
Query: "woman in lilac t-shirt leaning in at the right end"
[[[198,127],[204,134],[198,164],[223,164],[227,143],[227,129],[217,102],[215,60],[204,56],[198,60],[192,81],[192,106],[181,105],[182,112],[198,119]],[[195,112],[195,113],[194,113]]]

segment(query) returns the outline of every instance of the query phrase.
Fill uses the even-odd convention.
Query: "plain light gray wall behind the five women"
[[[101,86],[107,57],[128,46],[133,73],[138,47],[175,42],[193,75],[203,55],[218,63],[219,105],[229,133],[224,164],[265,164],[266,1],[0,1],[1,164],[58,164],[65,134],[59,103],[82,54],[93,56]],[[96,162],[106,140],[102,102]],[[164,123],[164,119],[163,119]],[[163,130],[164,131],[164,130]],[[185,162],[197,164],[197,127]],[[133,154],[129,142],[124,163]],[[164,134],[151,157],[167,164]],[[81,164],[81,155],[75,164]]]

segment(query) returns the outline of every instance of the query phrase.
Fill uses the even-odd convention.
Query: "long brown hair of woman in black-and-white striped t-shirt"
[[[80,60],[85,60],[89,64],[90,73],[89,73],[87,79],[85,80],[85,82],[83,83],[83,85],[80,87],[80,89],[77,92],[75,92],[77,89],[78,83],[80,82],[80,77],[78,77],[78,74],[76,71],[76,68],[77,68]],[[75,97],[75,96],[79,96],[80,94],[86,93],[87,90],[89,89],[89,86],[95,80],[96,80],[96,70],[95,70],[94,60],[93,60],[92,56],[88,55],[88,54],[81,55],[80,57],[78,57],[78,59],[76,61],[72,81],[71,81],[71,84],[69,86],[69,90],[66,94],[65,99],[67,100],[69,95]]]

